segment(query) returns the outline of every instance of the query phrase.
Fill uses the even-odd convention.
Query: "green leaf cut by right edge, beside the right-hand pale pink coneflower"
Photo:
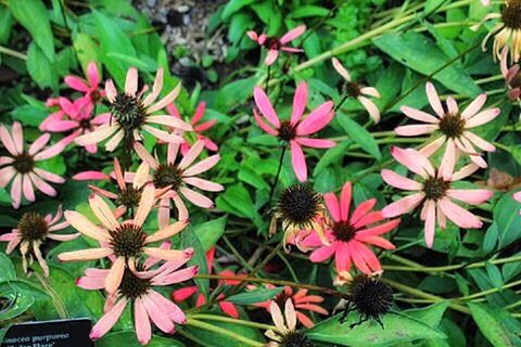
[[[498,247],[503,248],[521,237],[521,216],[519,215],[519,203],[512,194],[504,194],[494,207],[494,220],[499,232]]]

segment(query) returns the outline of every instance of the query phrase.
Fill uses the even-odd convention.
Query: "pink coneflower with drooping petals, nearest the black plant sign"
[[[192,279],[198,267],[178,270],[190,257],[167,261],[155,270],[144,267],[144,271],[123,270],[123,279],[117,291],[109,295],[105,314],[90,332],[91,339],[104,336],[122,317],[128,304],[134,306],[134,325],[138,340],[147,345],[152,338],[151,321],[166,334],[175,333],[175,324],[185,324],[185,312],[174,303],[156,292],[154,286],[168,286]],[[111,270],[87,269],[86,275],[78,279],[78,286],[85,290],[101,290],[111,275]]]

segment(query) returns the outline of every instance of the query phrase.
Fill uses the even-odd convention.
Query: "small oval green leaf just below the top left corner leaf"
[[[23,1],[21,1],[23,2]],[[27,61],[25,62],[30,78],[40,87],[58,89],[58,74],[52,62],[43,54],[39,46],[31,42],[27,51]]]

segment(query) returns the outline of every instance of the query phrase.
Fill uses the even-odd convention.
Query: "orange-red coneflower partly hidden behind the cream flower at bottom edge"
[[[272,284],[264,284],[264,287],[268,288],[268,290],[275,290],[276,286],[272,285]],[[251,291],[254,291],[254,290],[257,290],[257,287],[255,285],[249,285],[247,286],[249,290]],[[291,288],[291,286],[284,286],[284,290],[277,294],[277,296],[271,299],[271,300],[267,300],[267,301],[264,301],[264,303],[257,303],[257,304],[254,304],[253,306],[255,307],[259,307],[259,308],[264,308],[266,309],[268,312],[270,312],[270,308],[271,308],[271,305],[272,303],[285,303],[287,300],[291,300],[291,303],[293,304],[294,308],[295,308],[295,314],[296,314],[296,319],[306,327],[312,327],[314,325],[312,319],[309,317],[307,317],[306,314],[304,314],[302,311],[305,310],[305,311],[313,311],[313,312],[317,312],[317,313],[320,313],[320,314],[329,314],[328,313],[328,310],[326,310],[325,308],[322,308],[321,306],[317,305],[317,304],[320,304],[320,303],[323,303],[323,297],[319,296],[319,295],[308,295],[307,294],[307,290],[298,290],[296,292],[293,292],[293,290]]]

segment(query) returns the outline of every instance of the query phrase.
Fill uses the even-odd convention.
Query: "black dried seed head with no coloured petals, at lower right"
[[[393,306],[393,290],[379,277],[356,275],[350,283],[347,294],[347,307],[341,323],[351,310],[355,310],[360,316],[357,323],[351,324],[351,329],[361,324],[370,319],[376,320],[383,329],[381,317],[387,313]]]

